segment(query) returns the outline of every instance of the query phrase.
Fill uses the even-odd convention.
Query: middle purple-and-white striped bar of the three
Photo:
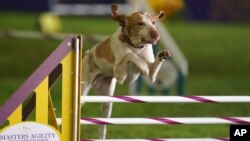
[[[250,124],[250,117],[82,118],[81,124]]]

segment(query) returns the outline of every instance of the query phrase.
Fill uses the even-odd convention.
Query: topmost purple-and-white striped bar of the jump
[[[122,103],[229,103],[250,102],[250,96],[82,96],[84,102]]]

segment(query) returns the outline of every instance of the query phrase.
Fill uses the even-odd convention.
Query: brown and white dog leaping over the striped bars
[[[123,84],[135,81],[140,74],[154,82],[162,62],[170,57],[167,50],[160,51],[156,58],[152,44],[160,34],[156,20],[165,13],[156,15],[135,12],[130,16],[117,14],[117,5],[112,5],[112,19],[120,24],[116,32],[85,53],[83,58],[83,92],[87,95],[94,87],[98,94],[112,96],[116,82]],[[110,117],[112,103],[103,103],[102,113]],[[100,128],[100,138],[105,139],[106,126]]]

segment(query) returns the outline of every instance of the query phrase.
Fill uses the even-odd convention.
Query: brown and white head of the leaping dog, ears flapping
[[[135,12],[130,16],[124,14],[117,14],[118,6],[113,4],[111,6],[112,19],[117,21],[135,46],[145,44],[156,44],[160,38],[160,34],[156,29],[156,20],[163,19],[165,12],[160,11],[156,15],[150,15],[146,12]]]

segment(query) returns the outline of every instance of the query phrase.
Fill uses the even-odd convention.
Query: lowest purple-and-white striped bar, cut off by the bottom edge
[[[100,139],[81,139],[81,141],[103,141],[103,140],[100,140]],[[229,138],[105,139],[105,141],[229,141]]]

